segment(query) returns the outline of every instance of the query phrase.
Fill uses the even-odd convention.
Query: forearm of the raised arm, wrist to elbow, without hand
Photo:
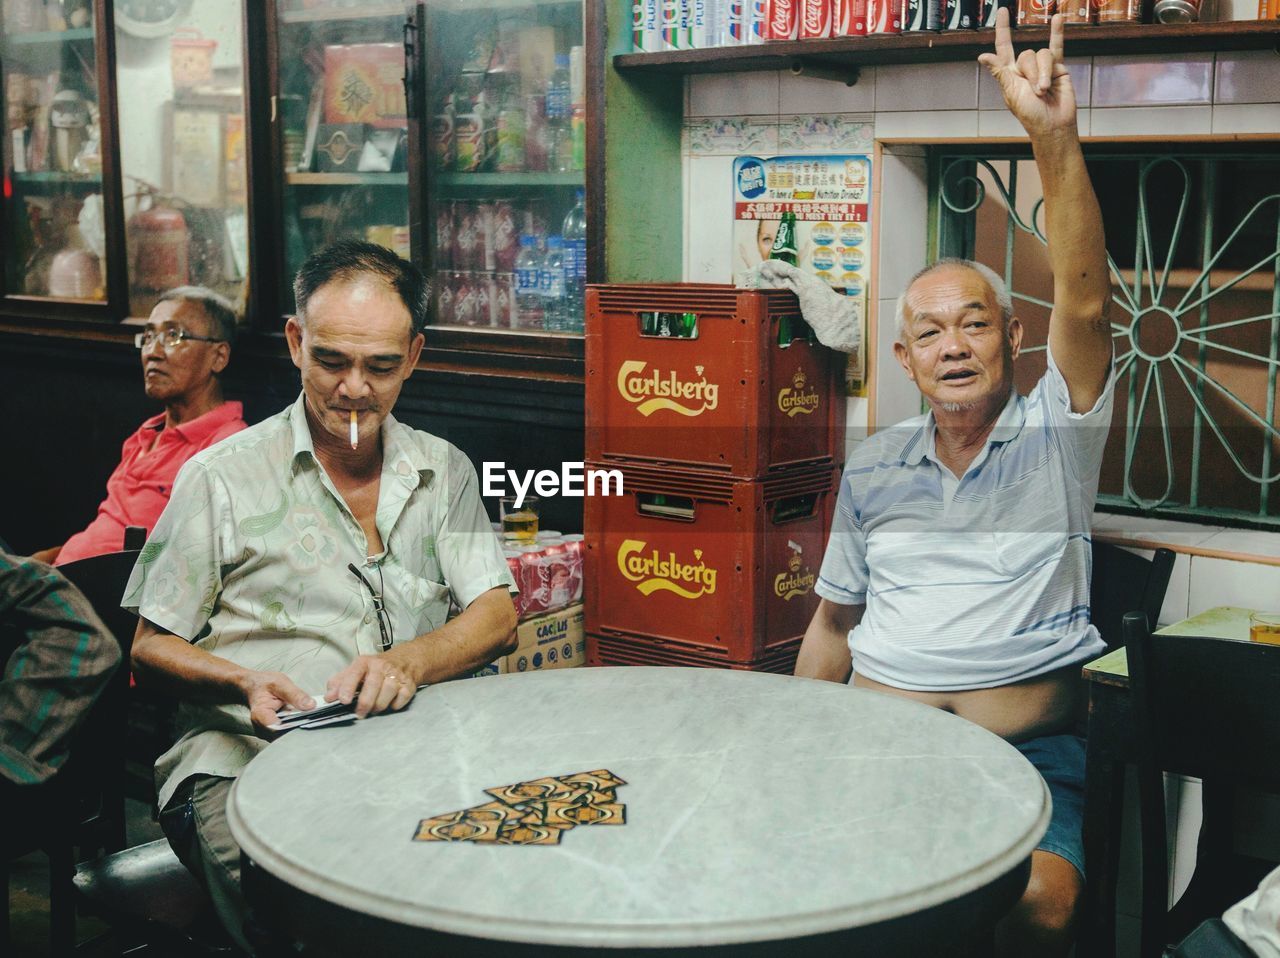
[[[1111,297],[1102,210],[1075,127],[1032,138],[1044,196],[1044,234],[1053,270],[1053,311],[1096,321]]]

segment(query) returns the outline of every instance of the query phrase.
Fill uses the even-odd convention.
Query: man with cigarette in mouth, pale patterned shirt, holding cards
[[[138,683],[182,701],[156,763],[161,825],[242,944],[227,795],[280,712],[399,710],[515,648],[516,585],[475,469],[390,415],[422,350],[421,272],[343,242],[294,295],[301,396],[187,464],[124,601]],[[445,621],[451,594],[463,611]]]

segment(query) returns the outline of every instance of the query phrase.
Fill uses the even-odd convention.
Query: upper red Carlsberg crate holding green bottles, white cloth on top
[[[732,286],[586,292],[586,457],[753,479],[837,465],[845,356],[795,293]]]

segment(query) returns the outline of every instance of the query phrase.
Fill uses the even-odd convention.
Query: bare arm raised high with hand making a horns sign
[[[1062,18],[1050,26],[1047,50],[1014,56],[1009,12],[996,14],[996,51],[978,58],[1000,83],[1009,108],[1032,141],[1044,192],[1044,233],[1053,270],[1048,342],[1071,393],[1087,412],[1106,384],[1111,360],[1111,277],[1102,211],[1093,193],[1075,127],[1075,91],[1062,63]]]

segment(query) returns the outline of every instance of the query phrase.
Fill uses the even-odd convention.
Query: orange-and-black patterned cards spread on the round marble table
[[[424,818],[413,840],[558,845],[575,825],[626,825],[618,785],[626,783],[607,768],[499,785],[485,789],[494,802]]]

